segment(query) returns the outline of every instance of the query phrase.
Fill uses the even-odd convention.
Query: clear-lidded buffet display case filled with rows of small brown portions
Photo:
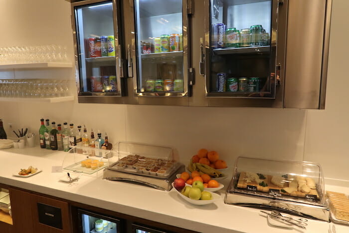
[[[131,181],[170,191],[175,175],[184,165],[174,161],[173,149],[140,143],[119,142],[113,149],[116,156],[108,159],[103,179]]]

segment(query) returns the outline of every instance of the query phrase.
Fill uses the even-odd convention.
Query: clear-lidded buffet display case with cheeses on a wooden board
[[[310,162],[239,157],[224,202],[329,221],[322,170]]]

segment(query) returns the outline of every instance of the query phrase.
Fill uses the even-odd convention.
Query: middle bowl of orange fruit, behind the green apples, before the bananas
[[[176,175],[177,178],[181,178],[185,182],[185,186],[192,186],[195,182],[202,182],[203,190],[208,192],[216,192],[224,188],[224,185],[218,183],[218,181],[211,179],[207,174],[200,174],[197,171],[193,171],[191,174],[182,172]]]

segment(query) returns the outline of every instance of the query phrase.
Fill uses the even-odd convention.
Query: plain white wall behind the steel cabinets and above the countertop
[[[216,150],[230,167],[237,156],[319,162],[325,176],[349,180],[346,132],[349,110],[345,91],[349,29],[342,24],[347,0],[334,0],[325,111],[260,108],[205,108],[78,104],[74,102],[0,102],[0,118],[14,128],[36,131],[39,119],[72,121],[107,131],[112,142],[128,140],[170,145],[182,162],[200,148]],[[0,46],[64,44],[73,60],[70,3],[64,0],[0,0]],[[345,36],[347,35],[347,36]],[[0,78],[67,77],[74,69],[0,72]],[[11,130],[6,125],[6,132]]]

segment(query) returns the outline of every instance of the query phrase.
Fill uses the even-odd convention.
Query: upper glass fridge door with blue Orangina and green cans
[[[209,0],[207,96],[275,98],[278,2]]]

